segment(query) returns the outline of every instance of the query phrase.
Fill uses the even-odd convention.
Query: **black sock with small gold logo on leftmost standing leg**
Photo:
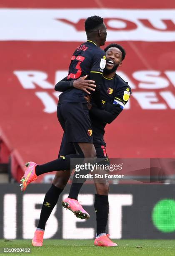
[[[37,228],[41,228],[41,229],[45,230],[45,224],[46,224],[53,208],[57,204],[59,195],[61,194],[62,191],[63,191],[63,189],[59,189],[53,184],[50,187],[50,189],[47,191],[47,193],[45,194],[44,202],[42,204],[40,220],[37,225]]]

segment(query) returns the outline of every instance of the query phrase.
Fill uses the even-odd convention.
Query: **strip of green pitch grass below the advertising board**
[[[175,240],[114,240],[117,247],[94,246],[92,240],[53,240],[47,239],[42,247],[31,246],[31,240],[0,240],[0,248],[31,248],[32,253],[0,253],[29,256],[175,256]],[[2,250],[2,249],[1,249]]]

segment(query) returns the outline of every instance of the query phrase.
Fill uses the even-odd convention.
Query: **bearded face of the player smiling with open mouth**
[[[122,65],[122,52],[116,47],[111,47],[106,51],[106,69],[114,70]]]

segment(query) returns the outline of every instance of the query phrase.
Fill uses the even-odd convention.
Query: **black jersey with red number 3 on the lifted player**
[[[87,79],[90,79],[91,72],[102,75],[106,64],[105,59],[105,52],[92,41],[81,44],[72,55],[67,80],[75,80],[85,75],[87,75]],[[86,103],[85,95],[87,95],[86,92],[72,87],[62,92],[59,96],[59,104],[67,102]]]

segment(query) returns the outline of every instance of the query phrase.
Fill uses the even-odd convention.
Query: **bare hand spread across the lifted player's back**
[[[90,94],[90,92],[88,90],[95,91],[96,85],[94,84],[95,81],[93,81],[93,80],[85,80],[86,77],[87,77],[87,75],[84,77],[80,77],[77,80],[74,80],[73,87],[75,87],[76,89],[85,91],[87,94]]]

